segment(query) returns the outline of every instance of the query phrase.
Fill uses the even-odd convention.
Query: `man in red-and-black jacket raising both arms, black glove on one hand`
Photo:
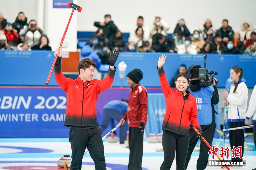
[[[61,72],[61,49],[55,67],[55,80],[67,94],[66,119],[64,125],[70,127],[69,141],[72,149],[70,170],[81,170],[82,158],[87,148],[96,170],[106,170],[104,146],[101,130],[97,121],[96,102],[100,92],[111,86],[114,80],[118,50],[112,49],[108,54],[109,69],[103,80],[93,79],[96,63],[89,58],[83,58],[78,63],[79,76],[72,80]]]

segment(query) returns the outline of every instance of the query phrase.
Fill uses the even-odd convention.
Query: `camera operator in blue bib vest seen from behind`
[[[197,101],[197,119],[204,134],[204,138],[212,145],[214,132],[216,128],[215,124],[215,110],[213,104],[219,103],[219,93],[216,87],[217,79],[213,77],[212,85],[202,87],[199,80],[199,68],[200,65],[192,65],[189,67],[190,91],[191,95],[196,98]],[[194,129],[190,124],[189,129],[189,149],[187,152],[186,169],[190,160],[190,156],[197,144],[198,137],[195,134]],[[200,154],[197,160],[197,169],[205,169],[208,163],[208,146],[201,142]]]

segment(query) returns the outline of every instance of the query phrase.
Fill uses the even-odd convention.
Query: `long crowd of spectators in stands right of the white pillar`
[[[190,32],[184,19],[179,19],[172,36],[167,35],[170,29],[168,23],[160,16],[156,16],[152,25],[147,26],[142,16],[131,28],[128,42],[118,27],[105,15],[105,22],[95,22],[94,26],[102,28],[106,38],[106,50],[117,48],[128,52],[170,52],[178,54],[225,53],[256,55],[256,27],[253,29],[249,22],[242,22],[241,30],[234,32],[228,25],[228,20],[222,21],[222,27],[216,29],[210,19],[206,19],[198,30]],[[98,32],[98,31],[97,31]],[[96,34],[97,34],[96,32]],[[192,34],[191,34],[192,33]],[[92,36],[93,41],[95,36]],[[103,47],[103,46],[102,46]],[[103,49],[103,48],[102,48]],[[97,50],[96,50],[97,51]],[[104,63],[104,55],[99,54]]]

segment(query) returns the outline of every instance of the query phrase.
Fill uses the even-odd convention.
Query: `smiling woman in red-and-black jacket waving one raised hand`
[[[166,79],[163,65],[167,56],[159,57],[157,71],[163,90],[166,112],[163,121],[162,145],[164,149],[164,162],[160,170],[170,170],[176,151],[177,169],[185,170],[187,151],[189,148],[189,122],[200,132],[199,138],[203,136],[202,129],[197,120],[197,103],[187,87],[189,77],[186,73],[177,75],[175,85],[177,90],[170,88]],[[196,134],[196,133],[195,133]]]

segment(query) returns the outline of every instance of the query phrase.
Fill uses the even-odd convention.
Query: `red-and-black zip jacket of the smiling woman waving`
[[[197,103],[195,97],[188,90],[187,93],[189,95],[184,98],[182,92],[171,89],[163,67],[158,69],[158,75],[166,103],[162,129],[189,136],[190,122],[199,132],[202,132],[197,120]]]

